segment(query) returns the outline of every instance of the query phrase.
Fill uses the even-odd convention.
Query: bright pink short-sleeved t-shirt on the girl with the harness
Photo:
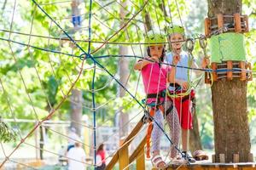
[[[166,89],[167,75],[171,71],[169,65],[150,63],[142,69],[144,91],[146,94],[157,94]],[[147,104],[156,99],[147,99]]]

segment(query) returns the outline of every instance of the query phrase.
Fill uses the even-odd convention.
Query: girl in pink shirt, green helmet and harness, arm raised
[[[151,133],[152,140],[152,164],[154,167],[166,167],[166,162],[160,156],[160,137],[162,135],[164,114],[166,122],[171,129],[171,138],[175,145],[178,144],[180,125],[177,111],[172,107],[172,99],[166,99],[165,90],[168,82],[175,81],[176,68],[169,65],[161,65],[164,60],[166,36],[156,31],[148,31],[145,43],[147,44],[148,57],[140,59],[134,65],[134,69],[142,71],[144,91],[147,94],[146,104],[154,107],[154,123]],[[173,59],[172,64],[177,65],[179,58]],[[160,105],[163,106],[164,112],[161,111]],[[172,111],[169,110],[172,108]],[[160,127],[155,123],[157,122]],[[174,146],[171,147],[171,158],[177,155]]]

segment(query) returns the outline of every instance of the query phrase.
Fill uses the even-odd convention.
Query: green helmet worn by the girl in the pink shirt
[[[166,36],[161,34],[159,31],[148,31],[145,37],[145,45],[161,45],[161,43],[166,42]],[[164,44],[163,44],[164,45]]]

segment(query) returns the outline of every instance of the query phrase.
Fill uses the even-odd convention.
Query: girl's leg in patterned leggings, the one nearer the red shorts
[[[172,105],[172,101],[166,102],[166,107],[169,108]],[[168,122],[170,128],[170,136],[172,138],[172,142],[174,145],[178,145],[178,141],[180,138],[181,128],[177,116],[177,110],[173,107],[172,112],[169,114],[167,113],[166,122]],[[171,158],[177,156],[177,150],[175,149],[174,145],[171,145]]]

